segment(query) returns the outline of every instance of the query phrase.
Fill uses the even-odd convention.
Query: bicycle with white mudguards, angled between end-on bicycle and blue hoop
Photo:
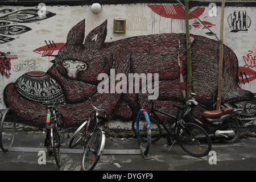
[[[69,147],[76,146],[79,142],[83,146],[82,165],[83,171],[91,171],[97,164],[105,146],[105,132],[101,121],[106,122],[108,118],[104,115],[98,114],[99,111],[108,112],[104,109],[98,109],[92,104],[93,98],[88,98],[93,107],[89,118],[75,131],[69,142]]]

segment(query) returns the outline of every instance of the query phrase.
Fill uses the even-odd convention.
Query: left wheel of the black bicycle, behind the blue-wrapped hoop
[[[155,143],[162,137],[162,129],[159,123],[154,118],[150,117],[149,119],[150,119],[150,125],[151,125],[151,142]],[[147,127],[146,127],[147,122],[144,115],[141,115],[139,122],[143,123],[142,125],[140,125],[140,127],[142,126],[142,128],[140,128],[139,135],[141,137],[142,142],[147,142]],[[136,123],[137,123],[137,118],[134,118],[131,127],[133,128],[133,133],[137,137]]]

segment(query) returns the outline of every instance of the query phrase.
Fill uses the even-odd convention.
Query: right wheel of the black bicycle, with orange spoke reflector
[[[212,148],[212,140],[207,132],[195,123],[180,125],[177,140],[185,152],[197,158],[208,155]]]

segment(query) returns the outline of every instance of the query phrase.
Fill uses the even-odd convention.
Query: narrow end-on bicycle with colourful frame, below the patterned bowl
[[[63,104],[64,102],[59,102],[58,104]],[[45,146],[47,147],[48,153],[51,155],[53,148],[53,155],[58,167],[61,166],[61,158],[60,158],[60,146],[63,143],[64,135],[65,135],[65,121],[64,117],[59,110],[55,106],[55,102],[53,103],[45,103],[52,104],[51,106],[47,106],[47,119],[46,119],[46,140]]]

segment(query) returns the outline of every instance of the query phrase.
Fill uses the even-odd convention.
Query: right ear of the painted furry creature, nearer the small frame
[[[105,42],[106,34],[107,34],[107,24],[108,20],[105,20],[100,26],[94,28],[85,39],[85,48],[87,50],[90,49],[98,49],[101,48]]]

